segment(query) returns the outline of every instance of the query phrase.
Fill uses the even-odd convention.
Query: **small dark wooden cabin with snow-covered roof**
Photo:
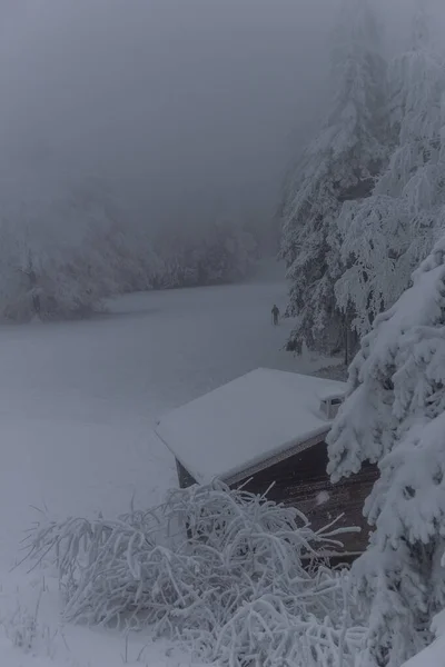
[[[172,410],[156,431],[181,487],[219,478],[265,492],[275,482],[268,497],[298,507],[315,527],[342,514],[338,526],[362,527],[344,536],[352,556],[367,542],[362,510],[376,470],[329,481],[325,438],[345,392],[344,382],[259,368]]]

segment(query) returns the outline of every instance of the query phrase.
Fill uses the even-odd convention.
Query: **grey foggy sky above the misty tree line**
[[[154,225],[268,210],[323,116],[336,6],[0,0],[0,163],[112,178]]]

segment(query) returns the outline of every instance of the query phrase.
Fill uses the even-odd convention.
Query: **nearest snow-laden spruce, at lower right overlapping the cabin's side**
[[[360,667],[398,667],[445,605],[445,237],[363,339],[328,451],[334,481],[379,468],[353,569],[369,614]]]

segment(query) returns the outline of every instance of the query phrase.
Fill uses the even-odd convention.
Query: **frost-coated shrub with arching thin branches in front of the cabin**
[[[352,623],[347,573],[323,558],[340,532],[214,482],[119,520],[39,526],[29,557],[57,565],[67,620],[150,625],[234,667],[346,667],[363,628]]]

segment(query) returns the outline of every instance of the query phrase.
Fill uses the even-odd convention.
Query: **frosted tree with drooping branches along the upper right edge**
[[[338,307],[354,312],[353,327],[366,334],[374,318],[408,286],[411,273],[434,243],[443,200],[441,98],[444,63],[429,39],[422,0],[411,43],[389,67],[392,156],[365,201],[347,202],[338,218],[344,272]]]

